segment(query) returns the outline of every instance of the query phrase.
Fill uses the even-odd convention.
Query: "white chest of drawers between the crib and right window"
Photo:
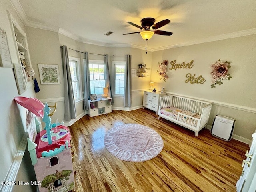
[[[161,93],[156,91],[155,93],[152,91],[144,91],[143,96],[143,109],[146,107],[150,110],[153,110],[158,113],[158,106],[160,97],[166,95],[166,93]]]

